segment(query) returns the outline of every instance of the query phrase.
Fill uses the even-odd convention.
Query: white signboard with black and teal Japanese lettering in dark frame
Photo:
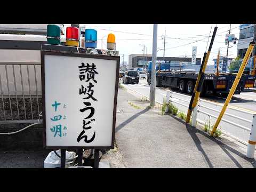
[[[44,147],[114,148],[119,57],[41,52]]]

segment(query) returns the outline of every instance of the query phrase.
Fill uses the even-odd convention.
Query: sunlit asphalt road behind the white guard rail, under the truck
[[[138,85],[123,85],[128,89],[149,97],[150,86],[145,79],[140,79],[140,83]],[[167,90],[169,90],[168,87],[156,87],[157,102],[163,103],[163,100],[166,98]],[[181,94],[177,89],[172,89],[170,100],[173,101],[173,104],[184,113],[187,113],[190,98],[190,95]],[[210,125],[214,125],[217,119],[216,117],[219,116],[219,111],[222,109],[225,100],[226,98],[214,96],[200,98],[198,107],[199,113],[197,114],[198,122],[207,122],[207,124],[210,123]],[[234,95],[218,128],[220,128],[223,133],[247,143],[250,135],[249,130],[251,129],[253,114],[256,114],[256,93],[244,92],[240,95]],[[225,122],[225,120],[228,122]]]

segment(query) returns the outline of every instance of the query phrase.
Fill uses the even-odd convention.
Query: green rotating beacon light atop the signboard
[[[47,44],[60,45],[60,26],[47,25]]]

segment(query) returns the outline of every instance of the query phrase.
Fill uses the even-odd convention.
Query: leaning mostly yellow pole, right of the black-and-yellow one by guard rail
[[[247,63],[248,63],[248,61],[250,59],[250,55],[252,54],[252,50],[254,48],[254,45],[255,45],[255,42],[251,42],[249,47],[248,47],[248,49],[247,49],[247,51],[246,51],[246,53],[245,53],[242,65],[240,66],[240,68],[238,70],[238,73],[236,75],[235,81],[234,81],[234,83],[233,83],[233,85],[232,85],[232,87],[231,87],[231,89],[230,89],[230,91],[228,93],[228,97],[227,97],[227,99],[226,99],[226,101],[224,103],[224,106],[222,107],[220,115],[219,115],[217,121],[215,122],[215,125],[214,125],[214,127],[212,129],[212,132],[211,132],[211,136],[214,135],[218,125],[220,124],[221,118],[224,115],[224,113],[225,113],[225,111],[226,111],[226,109],[228,107],[228,104],[229,104],[229,102],[230,102],[230,100],[231,100],[231,98],[232,98],[232,96],[233,96],[233,94],[234,94],[234,92],[236,90],[236,87],[237,87],[237,85],[238,85],[238,83],[240,81],[240,78],[242,77],[242,75],[244,73],[244,69],[245,69],[245,67],[246,67],[246,65],[247,65]]]

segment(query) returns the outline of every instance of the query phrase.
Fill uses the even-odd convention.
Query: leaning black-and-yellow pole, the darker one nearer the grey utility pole
[[[213,34],[212,34],[212,39],[211,39],[211,43],[209,45],[208,52],[204,53],[201,68],[199,70],[199,74],[198,74],[197,79],[196,79],[194,92],[192,94],[192,97],[191,97],[191,100],[190,100],[190,103],[189,103],[186,123],[189,123],[192,110],[197,105],[197,102],[198,102],[198,99],[199,99],[199,96],[200,96],[200,93],[201,93],[201,90],[202,90],[202,86],[203,86],[203,83],[204,83],[204,71],[205,71],[205,68],[206,68],[211,50],[212,50],[212,45],[213,45],[213,41],[214,41],[214,38],[215,38],[215,35],[216,35],[216,32],[217,32],[217,29],[218,29],[218,27],[214,27]]]

